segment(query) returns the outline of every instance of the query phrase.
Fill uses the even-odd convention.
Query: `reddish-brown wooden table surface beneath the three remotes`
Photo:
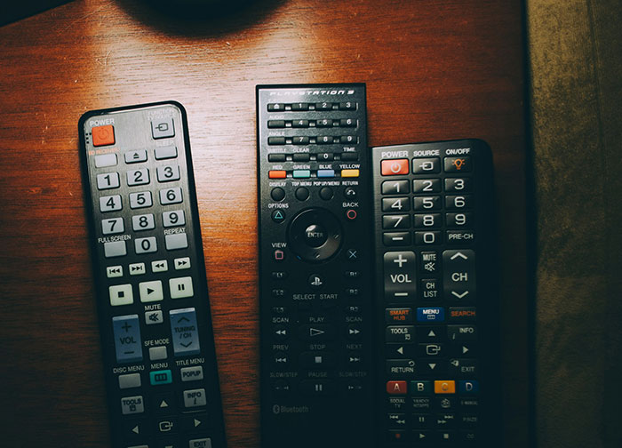
[[[84,0],[0,28],[0,444],[108,446],[77,120],[179,100],[229,446],[258,446],[255,84],[365,82],[372,146],[493,148],[504,446],[527,446],[522,38],[506,0],[268,0],[194,22]]]

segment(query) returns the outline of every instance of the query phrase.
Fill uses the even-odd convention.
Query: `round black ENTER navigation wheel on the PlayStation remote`
[[[291,250],[302,260],[318,262],[330,259],[341,246],[339,220],[326,209],[300,212],[291,220],[288,233]]]

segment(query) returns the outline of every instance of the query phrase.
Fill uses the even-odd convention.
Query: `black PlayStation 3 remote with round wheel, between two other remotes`
[[[261,446],[373,446],[364,84],[257,87]]]

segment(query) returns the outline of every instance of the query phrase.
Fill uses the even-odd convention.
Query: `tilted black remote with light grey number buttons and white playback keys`
[[[186,112],[80,118],[115,448],[225,446]]]

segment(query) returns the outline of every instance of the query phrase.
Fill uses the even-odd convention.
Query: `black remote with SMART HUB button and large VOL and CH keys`
[[[500,446],[490,148],[371,151],[379,446]]]

